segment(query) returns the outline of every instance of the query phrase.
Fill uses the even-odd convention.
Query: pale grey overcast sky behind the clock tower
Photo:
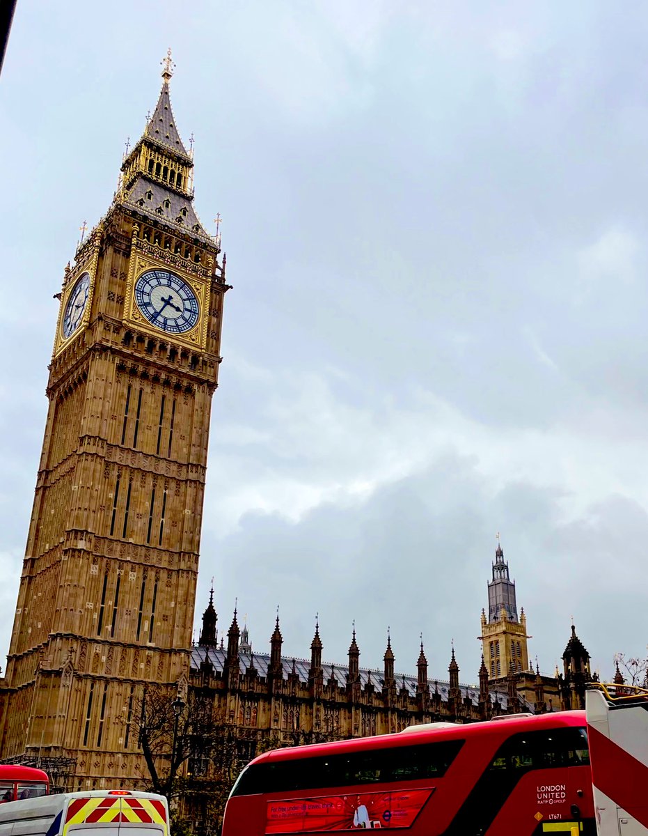
[[[63,268],[173,48],[227,293],[196,621],[475,681],[495,534],[551,672],[648,630],[648,7],[22,0],[0,79],[0,654]],[[4,665],[3,665],[4,666]]]

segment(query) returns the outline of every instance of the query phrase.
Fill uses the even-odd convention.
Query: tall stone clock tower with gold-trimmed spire
[[[163,62],[106,215],[68,265],[5,678],[0,757],[141,775],[134,706],[185,687],[225,256],[193,206]],[[118,721],[119,720],[119,721]]]

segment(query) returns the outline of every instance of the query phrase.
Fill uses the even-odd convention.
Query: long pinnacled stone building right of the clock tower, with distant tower
[[[423,643],[418,660],[408,665],[417,673],[397,674],[388,636],[382,668],[361,667],[355,630],[347,660],[323,663],[318,624],[310,656],[286,656],[278,616],[270,652],[253,652],[247,627],[240,630],[236,613],[226,634],[219,636],[212,589],[200,639],[191,650],[190,689],[209,695],[218,716],[246,741],[249,757],[258,744],[266,747],[268,741],[286,746],[400,732],[424,722],[472,722],[503,713],[580,707],[574,695],[580,694],[578,689],[585,693],[589,655],[575,639],[574,629],[563,655],[564,672],[540,674],[537,665],[534,670],[529,665],[524,611],[518,619],[515,586],[499,545],[492,568],[490,619],[482,612],[480,636],[488,656],[471,677],[478,686],[459,682],[454,649],[447,677],[428,675]]]

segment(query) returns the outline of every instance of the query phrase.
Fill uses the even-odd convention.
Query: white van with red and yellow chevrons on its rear
[[[166,798],[92,790],[0,804],[0,836],[169,836]]]

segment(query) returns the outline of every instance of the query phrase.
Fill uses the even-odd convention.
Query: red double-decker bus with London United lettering
[[[223,836],[370,829],[595,836],[585,711],[266,752],[240,773]]]

